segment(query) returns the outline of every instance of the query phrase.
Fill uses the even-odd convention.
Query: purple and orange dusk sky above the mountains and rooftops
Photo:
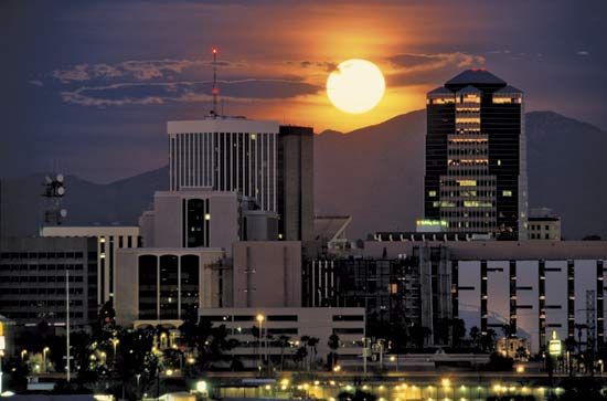
[[[0,1],[0,177],[58,169],[97,182],[167,163],[166,122],[211,108],[349,131],[425,107],[486,67],[550,109],[607,128],[607,2]],[[254,4],[254,6],[253,6]],[[326,82],[375,63],[386,93],[351,115]]]

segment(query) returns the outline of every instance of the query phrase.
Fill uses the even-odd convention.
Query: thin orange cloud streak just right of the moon
[[[436,54],[404,53],[394,55],[388,60],[394,68],[400,72],[433,71],[449,66],[464,68],[483,65],[486,61],[482,55],[462,52]]]

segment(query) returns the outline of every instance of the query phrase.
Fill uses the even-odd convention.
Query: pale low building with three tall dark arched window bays
[[[116,323],[172,324],[231,298],[231,268],[221,249],[138,249],[117,254]],[[137,324],[136,324],[137,323]]]

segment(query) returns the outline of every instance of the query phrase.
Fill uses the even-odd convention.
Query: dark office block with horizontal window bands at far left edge
[[[17,325],[72,327],[97,317],[97,242],[85,238],[4,239],[0,246],[0,315]]]

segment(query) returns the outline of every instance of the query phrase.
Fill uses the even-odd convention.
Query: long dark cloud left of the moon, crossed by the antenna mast
[[[320,86],[301,80],[244,78],[219,81],[221,97],[230,101],[285,99],[311,95]],[[167,103],[209,102],[211,81],[132,82],[103,86],[81,86],[64,91],[65,103],[82,106],[161,105]]]

